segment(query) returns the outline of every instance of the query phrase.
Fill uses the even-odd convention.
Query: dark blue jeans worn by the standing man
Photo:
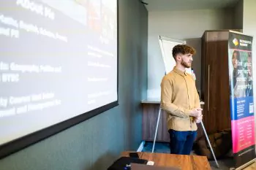
[[[170,129],[170,153],[190,155],[197,131],[174,131]]]

